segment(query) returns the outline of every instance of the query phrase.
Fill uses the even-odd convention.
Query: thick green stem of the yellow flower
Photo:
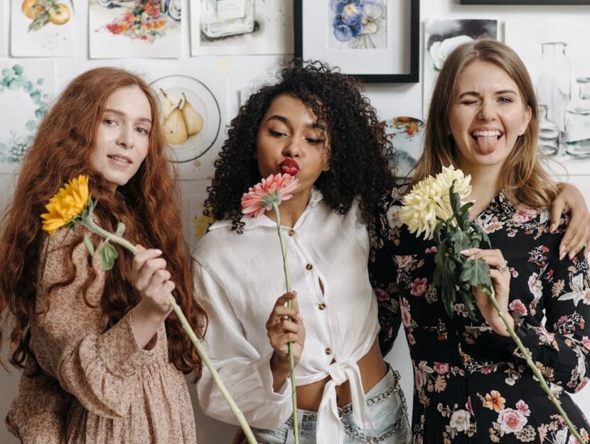
[[[117,234],[108,232],[106,229],[99,227],[97,224],[95,224],[94,221],[92,221],[92,219],[87,218],[82,222],[82,224],[85,227],[87,227],[87,229],[90,229],[91,232],[98,234],[104,237],[105,239],[114,242],[115,244],[121,245],[122,247],[131,251],[134,255],[139,253],[139,249],[137,249],[137,247],[135,247],[134,244],[129,242],[127,239],[124,239],[123,237],[117,236]],[[211,362],[211,359],[209,358],[207,352],[205,352],[203,345],[201,345],[200,340],[198,339],[197,335],[195,335],[193,328],[188,323],[188,320],[186,320],[186,316],[184,315],[182,308],[178,306],[176,300],[174,299],[174,296],[169,295],[168,300],[170,301],[172,310],[174,311],[174,313],[176,313],[178,320],[181,321],[183,330],[186,332],[191,342],[193,342],[193,345],[195,346],[197,353],[199,354],[200,358],[203,359],[203,362],[209,369],[209,372],[211,373],[211,376],[213,377],[215,384],[218,386],[219,391],[225,398],[225,401],[227,401],[227,404],[229,404],[230,408],[232,409],[232,412],[237,418],[237,421],[240,423],[240,426],[242,426],[242,430],[246,435],[248,444],[257,444],[256,438],[254,438],[254,434],[252,433],[252,429],[250,428],[250,426],[248,426],[246,418],[244,417],[244,413],[242,413],[240,408],[237,407],[235,401],[232,399],[232,396],[230,395],[230,392],[227,391],[225,384],[223,384],[221,377],[219,376],[217,370],[213,366],[213,362]]]

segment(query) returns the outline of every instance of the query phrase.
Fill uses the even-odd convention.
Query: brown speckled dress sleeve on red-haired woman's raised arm
[[[73,281],[53,286],[66,281],[68,245],[75,238],[74,232],[60,230],[45,242],[37,305],[48,310],[31,323],[31,348],[43,370],[88,411],[108,418],[122,417],[132,403],[134,384],[129,384],[129,379],[152,352],[137,345],[132,312],[107,330],[107,319],[100,308],[104,272],[97,256],[89,264],[83,243],[73,249]],[[96,276],[90,279],[85,301],[83,288],[91,274]]]

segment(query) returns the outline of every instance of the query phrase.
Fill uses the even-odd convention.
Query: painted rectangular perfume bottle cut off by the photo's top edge
[[[208,38],[254,30],[254,0],[200,0],[200,29]]]

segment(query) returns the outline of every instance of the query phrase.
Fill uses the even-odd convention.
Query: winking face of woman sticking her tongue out
[[[476,61],[463,68],[449,110],[449,126],[459,166],[502,166],[531,112],[516,82],[492,63]]]

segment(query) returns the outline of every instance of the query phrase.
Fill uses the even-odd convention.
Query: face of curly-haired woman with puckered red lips
[[[289,173],[299,179],[296,193],[310,193],[328,168],[329,136],[313,111],[288,94],[276,97],[262,117],[256,137],[260,175]]]

